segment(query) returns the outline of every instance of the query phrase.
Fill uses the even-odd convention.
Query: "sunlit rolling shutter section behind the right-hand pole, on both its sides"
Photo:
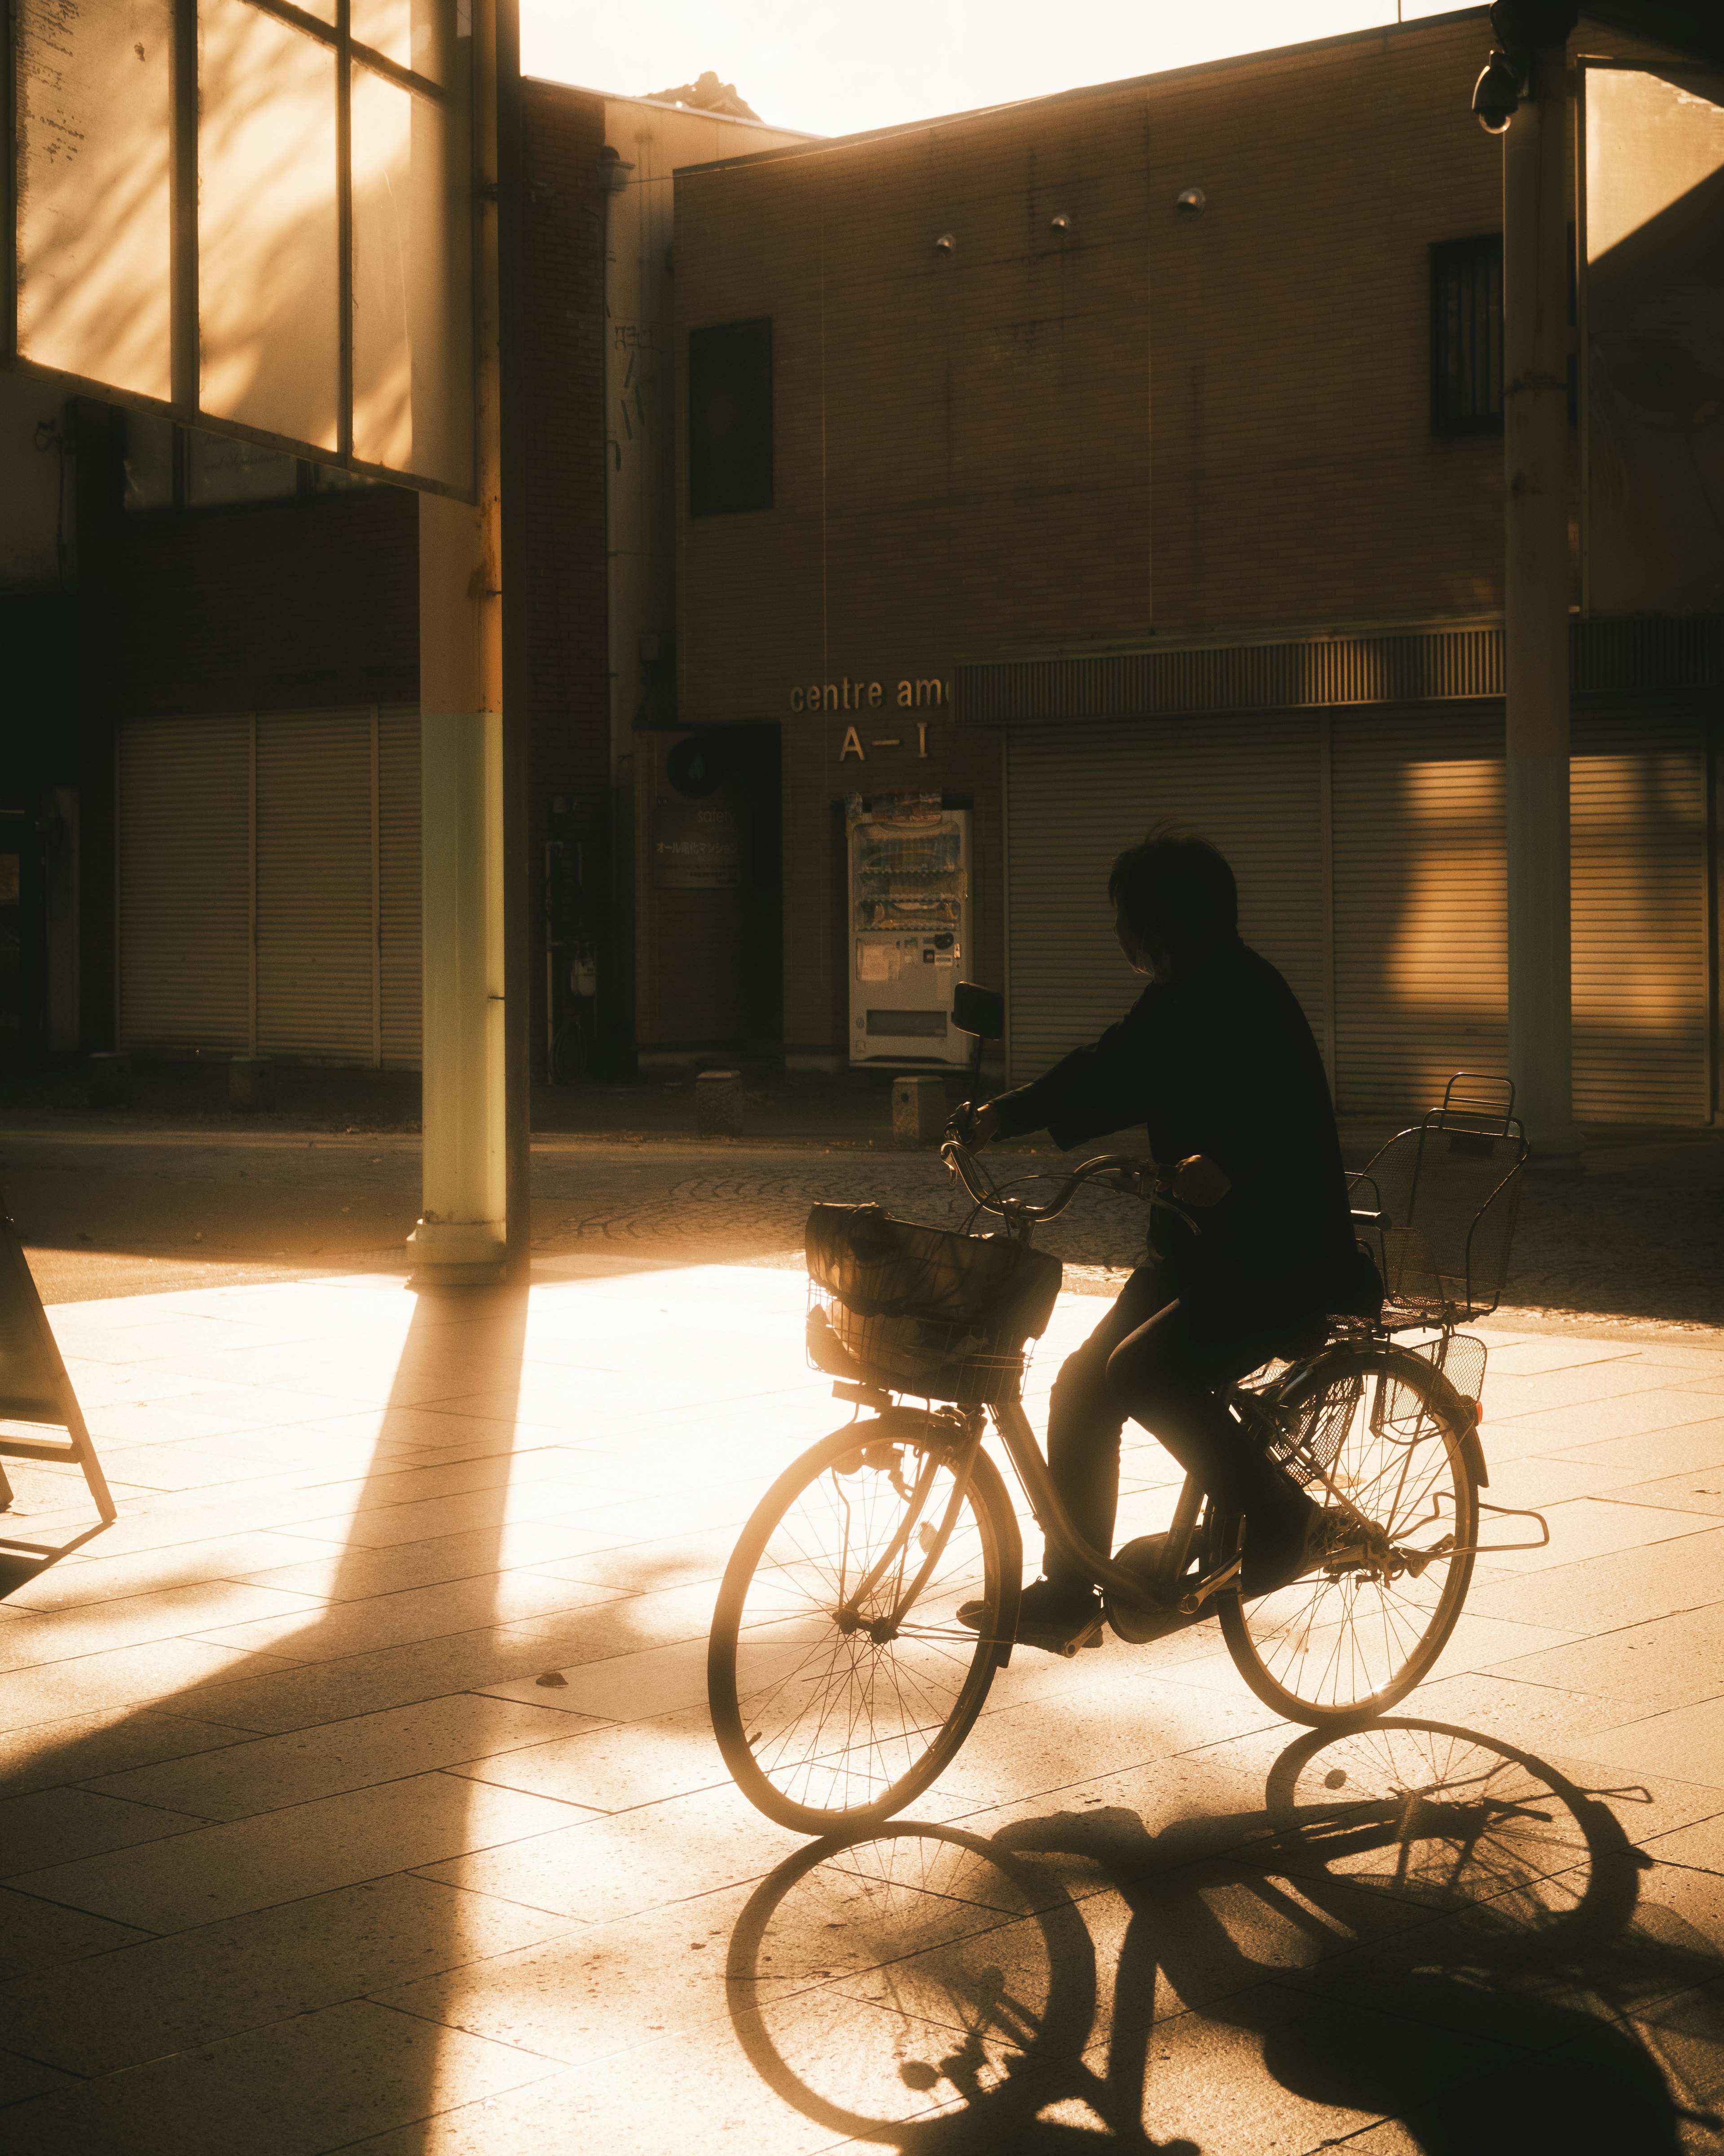
[[[1416,1115],[1508,1067],[1502,720],[1334,722],[1336,1095]],[[1573,720],[1573,1054],[1586,1123],[1707,1119],[1698,716]]]

